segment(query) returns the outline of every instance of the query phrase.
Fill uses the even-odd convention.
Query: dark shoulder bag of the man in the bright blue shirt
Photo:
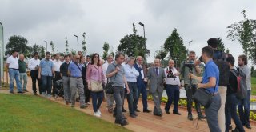
[[[216,82],[217,85],[217,82]],[[214,92],[215,92],[215,88],[216,85],[214,87]],[[213,94],[210,94],[209,90],[206,90],[205,88],[199,88],[193,95],[193,99],[194,101],[200,103],[202,106],[204,106],[205,108],[208,108],[212,102],[212,97],[214,96]]]

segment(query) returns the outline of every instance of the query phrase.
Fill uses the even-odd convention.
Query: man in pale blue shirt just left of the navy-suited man
[[[126,81],[130,88],[130,93],[127,94],[128,107],[131,118],[136,118],[138,114],[135,112],[138,104],[138,88],[137,88],[137,77],[139,76],[138,71],[134,68],[134,57],[127,59],[127,64],[124,66],[126,73]]]

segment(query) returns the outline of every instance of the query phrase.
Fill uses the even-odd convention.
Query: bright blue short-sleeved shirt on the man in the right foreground
[[[205,72],[202,75],[202,84],[209,82],[210,77],[214,77],[217,80],[215,91],[214,91],[214,87],[206,88],[207,90],[210,91],[210,93],[213,94],[218,92],[218,81],[219,81],[218,66],[214,63],[213,60],[210,60],[209,62],[206,63]]]

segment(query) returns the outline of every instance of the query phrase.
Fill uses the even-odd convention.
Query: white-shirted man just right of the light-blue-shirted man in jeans
[[[55,96],[55,95],[57,96],[58,95],[58,90],[57,90],[57,86],[56,86],[56,81],[62,79],[61,74],[60,74],[60,67],[61,67],[63,62],[59,59],[59,54],[58,53],[54,54],[54,58],[55,59],[54,59],[53,63],[54,63],[55,78],[53,80],[53,82],[54,82],[53,96]]]

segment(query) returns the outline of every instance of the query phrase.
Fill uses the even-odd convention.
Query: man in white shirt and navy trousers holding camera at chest
[[[174,60],[169,61],[169,66],[165,69],[166,74],[166,94],[168,96],[168,101],[166,102],[166,114],[170,114],[170,105],[174,101],[174,110],[173,114],[181,115],[178,112],[178,100],[179,100],[179,88],[180,88],[180,81],[179,81],[179,73],[174,67],[175,62]]]

